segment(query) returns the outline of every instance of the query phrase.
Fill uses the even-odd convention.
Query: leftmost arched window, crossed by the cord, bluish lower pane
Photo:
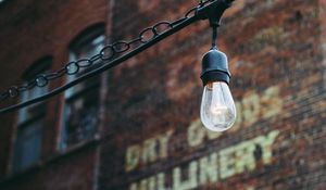
[[[51,65],[50,59],[43,59],[34,64],[24,74],[24,80],[30,81],[36,75],[45,74]],[[48,92],[47,87],[34,87],[22,92],[22,102]],[[42,126],[45,124],[46,103],[39,102],[21,109],[17,116],[17,135],[14,147],[13,172],[23,170],[36,164],[41,152]]]

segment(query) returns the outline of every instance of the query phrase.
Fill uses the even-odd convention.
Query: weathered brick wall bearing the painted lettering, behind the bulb
[[[113,34],[135,36],[191,3],[116,2],[123,11]],[[112,71],[101,189],[325,189],[318,13],[317,1],[303,0],[239,0],[228,10],[218,43],[229,58],[238,118],[224,134],[199,122],[205,23]]]

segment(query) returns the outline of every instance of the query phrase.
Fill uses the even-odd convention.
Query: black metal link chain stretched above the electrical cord
[[[49,84],[50,80],[60,78],[64,75],[76,75],[80,71],[80,68],[90,67],[96,63],[112,60],[116,55],[129,51],[133,46],[135,46],[133,47],[133,49],[135,49],[140,45],[147,43],[151,41],[153,38],[155,38],[156,36],[159,36],[160,34],[174,28],[174,26],[181,23],[183,21],[191,16],[195,16],[197,14],[198,9],[206,5],[209,2],[212,2],[212,0],[206,0],[206,1],[201,0],[199,4],[190,9],[185,14],[184,17],[174,22],[167,22],[167,21],[159,22],[155,25],[143,29],[139,34],[139,36],[135,39],[131,39],[129,41],[116,41],[106,45],[101,49],[101,51],[98,54],[89,59],[80,59],[77,61],[68,62],[67,64],[64,65],[64,67],[62,67],[61,69],[54,73],[37,75],[34,79],[32,79],[27,84],[21,86],[12,86],[0,94],[0,101],[4,101],[9,98],[16,98],[18,97],[20,93],[30,90],[35,87],[40,87],[40,88],[45,87]]]

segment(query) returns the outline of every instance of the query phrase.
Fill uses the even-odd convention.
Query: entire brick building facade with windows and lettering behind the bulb
[[[0,1],[0,87],[91,58],[198,1]],[[237,0],[218,47],[237,122],[200,123],[199,22],[48,101],[0,116],[2,190],[326,189],[324,0]],[[75,75],[1,107],[45,94]]]

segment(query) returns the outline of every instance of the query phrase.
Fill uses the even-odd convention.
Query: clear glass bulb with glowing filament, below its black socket
[[[200,118],[203,125],[213,131],[224,131],[234,125],[236,105],[227,84],[214,81],[204,87]]]

